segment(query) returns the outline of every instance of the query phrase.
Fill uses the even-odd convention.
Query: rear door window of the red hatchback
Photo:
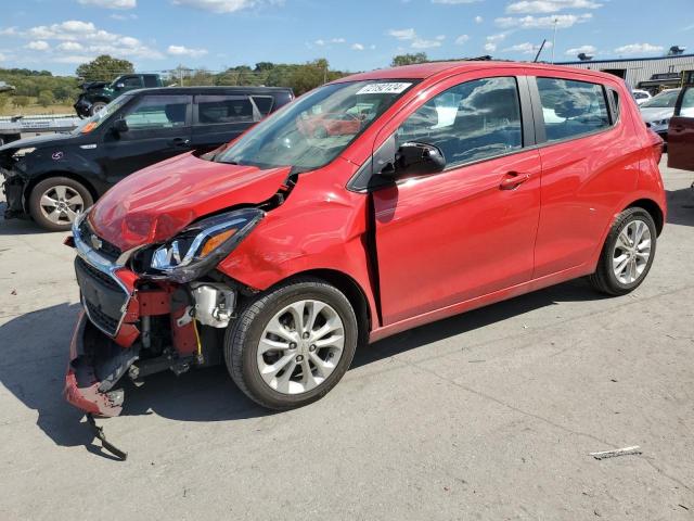
[[[601,85],[560,78],[537,78],[548,141],[558,141],[609,127]]]

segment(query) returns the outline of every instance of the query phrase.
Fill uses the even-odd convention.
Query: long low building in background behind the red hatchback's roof
[[[680,87],[682,73],[690,73],[694,79],[694,54],[676,54],[657,58],[632,58],[618,60],[592,60],[583,56],[577,62],[562,62],[557,65],[603,71],[624,78],[633,89],[644,89],[656,94],[664,89]],[[685,81],[691,79],[685,78]]]

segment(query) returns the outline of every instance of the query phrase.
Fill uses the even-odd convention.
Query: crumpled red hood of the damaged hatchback
[[[98,236],[121,251],[163,242],[210,213],[267,201],[290,169],[262,170],[187,153],[126,177],[93,206],[89,221]]]

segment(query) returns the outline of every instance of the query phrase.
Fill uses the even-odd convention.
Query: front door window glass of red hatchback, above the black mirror
[[[436,96],[400,126],[396,141],[438,147],[447,167],[520,149],[516,79],[476,79]]]

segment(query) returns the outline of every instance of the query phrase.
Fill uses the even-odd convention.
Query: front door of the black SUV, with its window
[[[192,97],[146,94],[124,109],[128,130],[104,135],[104,171],[115,183],[124,177],[191,150]]]

